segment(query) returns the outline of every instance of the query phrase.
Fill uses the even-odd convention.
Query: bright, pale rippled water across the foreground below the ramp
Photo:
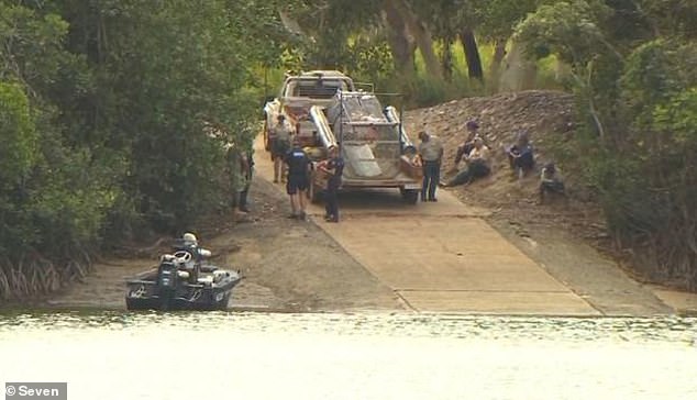
[[[0,357],[71,400],[697,398],[682,318],[20,312]]]

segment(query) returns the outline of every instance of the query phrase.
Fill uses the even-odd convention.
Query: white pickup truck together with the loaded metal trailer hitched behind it
[[[351,78],[334,70],[314,70],[286,77],[280,96],[264,107],[266,148],[279,114],[290,122],[316,165],[340,145],[345,167],[343,189],[398,188],[405,201],[416,203],[422,170],[417,152],[394,107],[384,108],[372,91],[356,90]],[[309,197],[325,188],[327,174],[313,168]]]

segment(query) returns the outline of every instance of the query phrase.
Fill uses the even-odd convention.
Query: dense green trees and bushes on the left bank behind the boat
[[[265,1],[0,0],[0,247],[11,259],[218,210],[248,147],[257,65],[288,47]]]

